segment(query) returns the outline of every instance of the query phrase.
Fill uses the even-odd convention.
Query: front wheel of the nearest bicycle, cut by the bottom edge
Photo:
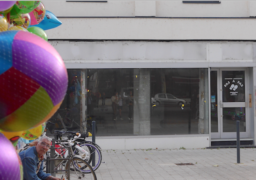
[[[65,165],[65,167],[68,168],[67,165]],[[96,174],[91,165],[89,165],[89,163],[80,158],[73,158],[70,161],[70,168],[73,169],[73,171],[70,171],[70,179],[76,178],[81,180],[97,180]],[[90,171],[91,173],[85,173],[88,171]]]

